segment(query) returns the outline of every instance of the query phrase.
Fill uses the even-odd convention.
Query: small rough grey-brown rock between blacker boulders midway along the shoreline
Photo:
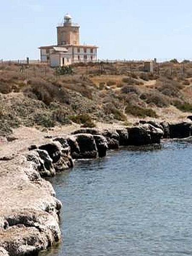
[[[102,135],[106,138],[109,149],[119,148],[119,134],[116,131],[106,129],[102,132]]]

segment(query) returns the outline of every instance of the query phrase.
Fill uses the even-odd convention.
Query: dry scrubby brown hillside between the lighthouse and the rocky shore
[[[137,119],[185,119],[192,111],[192,62],[73,65],[59,75],[45,65],[0,64],[0,136],[12,128],[50,128],[72,122],[131,125]]]

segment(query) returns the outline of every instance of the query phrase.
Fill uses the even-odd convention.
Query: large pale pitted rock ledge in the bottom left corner
[[[55,217],[47,212],[13,210],[6,218],[9,227],[0,233],[0,246],[10,256],[31,255],[60,240],[58,218],[55,222]]]

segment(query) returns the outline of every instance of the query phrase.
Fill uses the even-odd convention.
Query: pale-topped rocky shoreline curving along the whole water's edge
[[[192,122],[141,120],[128,128],[47,135],[44,143],[31,144],[13,157],[0,154],[0,256],[34,255],[61,240],[61,202],[44,178],[73,168],[77,159],[105,157],[120,146],[159,144],[162,138],[191,135]]]

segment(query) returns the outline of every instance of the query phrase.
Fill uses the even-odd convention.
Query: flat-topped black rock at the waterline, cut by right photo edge
[[[187,138],[191,136],[191,122],[169,124],[170,138]]]

